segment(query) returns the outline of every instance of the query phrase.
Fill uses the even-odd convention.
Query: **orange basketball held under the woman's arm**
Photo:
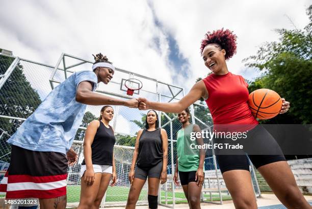
[[[280,112],[282,100],[275,91],[261,88],[250,93],[248,105],[255,118],[265,120]]]

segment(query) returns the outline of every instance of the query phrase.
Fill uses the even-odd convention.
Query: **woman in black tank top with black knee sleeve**
[[[158,114],[149,110],[145,129],[137,135],[132,158],[129,181],[131,188],[126,208],[135,208],[144,183],[148,177],[148,205],[157,208],[159,184],[167,181],[168,136],[159,127]],[[136,167],[136,168],[135,168]]]

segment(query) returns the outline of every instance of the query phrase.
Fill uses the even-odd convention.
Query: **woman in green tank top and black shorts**
[[[182,128],[177,132],[177,156],[173,181],[179,185],[178,175],[190,208],[200,208],[200,194],[204,182],[204,150],[191,149],[191,144],[203,144],[202,138],[191,139],[192,132],[200,132],[196,124],[190,124],[190,110],[178,113]]]

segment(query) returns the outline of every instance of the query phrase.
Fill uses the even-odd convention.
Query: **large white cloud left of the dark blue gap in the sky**
[[[55,65],[62,52],[92,60],[102,52],[120,68],[172,82],[166,35],[139,1],[10,1],[0,9],[0,45]],[[161,51],[153,40],[159,39]],[[29,49],[30,48],[30,49]]]

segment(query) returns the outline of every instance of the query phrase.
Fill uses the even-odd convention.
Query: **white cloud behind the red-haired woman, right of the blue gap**
[[[199,54],[200,40],[207,31],[230,29],[238,36],[238,53],[228,61],[229,71],[241,73],[242,59],[254,55],[265,41],[277,40],[275,28],[293,29],[289,16],[300,29],[308,18],[312,1],[153,1],[156,16],[177,41],[180,54],[189,60],[189,80],[178,79],[189,89],[196,78],[209,73]],[[287,16],[286,16],[287,15]]]

